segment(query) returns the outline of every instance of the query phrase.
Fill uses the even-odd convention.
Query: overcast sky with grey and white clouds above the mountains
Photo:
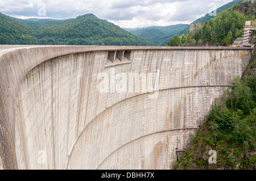
[[[122,28],[189,24],[232,0],[0,0],[16,18],[69,19],[93,13]]]

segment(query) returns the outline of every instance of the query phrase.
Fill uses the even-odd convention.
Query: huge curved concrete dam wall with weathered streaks
[[[172,169],[253,48],[0,50],[4,169]]]

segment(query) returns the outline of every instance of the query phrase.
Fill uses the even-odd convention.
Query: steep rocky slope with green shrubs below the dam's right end
[[[209,151],[217,153],[209,163]],[[216,99],[175,169],[256,170],[256,52],[242,79]]]

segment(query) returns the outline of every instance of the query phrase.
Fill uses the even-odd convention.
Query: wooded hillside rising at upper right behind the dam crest
[[[246,1],[235,4],[204,23],[203,27],[183,35],[176,35],[166,46],[222,45],[228,46],[242,35],[246,20],[254,20],[256,3]],[[185,37],[184,37],[185,36]],[[185,41],[181,42],[181,38]],[[177,44],[178,43],[178,44]]]

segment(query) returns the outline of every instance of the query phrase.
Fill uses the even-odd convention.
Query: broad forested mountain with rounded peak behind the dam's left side
[[[93,14],[66,20],[20,20],[1,14],[0,21],[0,44],[153,45]]]

